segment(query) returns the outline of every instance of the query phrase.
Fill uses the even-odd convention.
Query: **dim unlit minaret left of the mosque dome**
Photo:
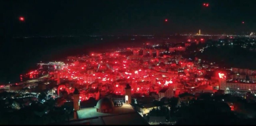
[[[73,102],[74,102],[74,120],[77,120],[77,111],[80,110],[80,93],[77,90],[77,88],[75,88],[75,91],[73,93]]]

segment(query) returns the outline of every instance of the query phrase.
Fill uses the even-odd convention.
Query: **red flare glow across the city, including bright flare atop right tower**
[[[191,39],[188,39],[188,41],[191,41]],[[204,40],[204,38],[197,39]],[[182,48],[184,47],[181,45],[175,46],[177,50]],[[172,47],[169,48],[169,50],[172,49]],[[199,67],[198,69],[198,64],[194,64],[194,62],[185,58],[172,57],[168,54],[162,54],[159,57],[152,55],[147,57],[147,55],[142,56],[142,53],[139,54],[139,52],[150,54],[165,51],[130,47],[130,55],[116,51],[105,54],[94,52],[89,56],[79,58],[69,57],[68,64],[55,64],[55,67],[59,66],[60,68],[49,72],[49,77],[58,84],[56,88],[57,98],[72,94],[74,88],[79,87],[80,101],[86,101],[89,98],[99,100],[102,92],[122,96],[126,93],[127,84],[131,87],[132,95],[140,94],[145,97],[148,97],[151,92],[159,93],[165,90],[173,92],[183,90],[182,92],[190,91],[194,93],[195,91],[191,89],[197,89],[202,85],[212,87],[217,85],[218,82],[215,82],[215,80],[212,82],[212,80],[209,81],[203,77],[209,68]],[[198,58],[195,59],[198,60]],[[225,71],[215,72],[214,79],[226,81],[224,73]],[[38,74],[40,74],[39,71],[34,70],[29,71],[27,76],[33,79]],[[62,81],[62,83],[59,81]],[[178,94],[174,95],[172,93],[170,95],[170,97],[177,97]]]

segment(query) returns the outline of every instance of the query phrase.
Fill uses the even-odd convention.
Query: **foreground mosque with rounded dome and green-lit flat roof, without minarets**
[[[77,111],[77,120],[70,125],[149,125],[129,104],[116,107],[108,98],[102,98],[93,108]]]

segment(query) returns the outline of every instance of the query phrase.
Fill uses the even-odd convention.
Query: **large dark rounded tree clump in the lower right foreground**
[[[216,101],[196,101],[179,108],[177,125],[235,124],[236,117],[227,104]]]

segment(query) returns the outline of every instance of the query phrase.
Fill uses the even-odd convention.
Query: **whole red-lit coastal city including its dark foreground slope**
[[[1,105],[5,113],[21,114],[29,109],[36,117],[30,122],[21,119],[21,122],[6,123],[100,124],[88,118],[103,116],[98,113],[119,107],[112,110],[113,116],[135,112],[140,117],[132,115],[134,120],[146,120],[136,124],[174,125],[185,123],[185,109],[192,109],[193,105],[209,107],[209,104],[217,107],[214,111],[209,107],[215,116],[224,113],[232,116],[225,117],[223,122],[208,119],[213,121],[211,124],[232,124],[234,120],[255,118],[256,70],[225,68],[198,57],[183,57],[196,56],[209,47],[220,46],[239,46],[255,51],[255,36],[225,36],[213,42],[204,35],[186,38],[185,42],[170,43],[163,38],[161,43],[146,42],[142,47],[90,52],[69,56],[60,62],[40,62],[37,69],[21,74],[20,82],[1,85]],[[95,108],[95,115],[84,115]],[[34,118],[37,121],[33,122]]]

